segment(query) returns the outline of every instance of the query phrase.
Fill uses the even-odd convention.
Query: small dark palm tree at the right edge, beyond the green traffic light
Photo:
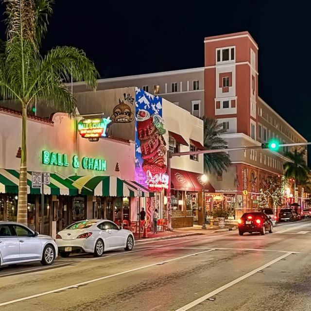
[[[301,184],[307,180],[310,172],[309,167],[306,165],[305,150],[284,153],[289,161],[283,164],[284,175],[288,178],[294,178],[294,187],[296,188],[296,181]]]

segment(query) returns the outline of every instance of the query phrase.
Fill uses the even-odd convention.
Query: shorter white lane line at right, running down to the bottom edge
[[[240,277],[236,278],[235,280],[233,280],[233,281],[231,281],[231,282],[225,284],[224,286],[219,287],[218,289],[216,289],[216,290],[214,290],[214,291],[212,291],[212,292],[210,292],[210,293],[208,293],[208,294],[206,294],[206,295],[204,295],[204,296],[202,296],[202,297],[200,297],[200,298],[198,298],[198,299],[193,300],[193,301],[190,302],[189,304],[187,304],[187,305],[185,305],[185,306],[183,306],[183,307],[181,307],[181,308],[179,308],[179,309],[177,309],[177,310],[175,310],[175,311],[187,311],[187,310],[189,310],[189,309],[195,307],[195,306],[198,305],[199,303],[203,302],[204,300],[206,300],[206,299],[208,299],[208,298],[210,298],[210,297],[212,297],[212,296],[214,296],[214,295],[216,295],[216,294],[219,294],[219,293],[222,292],[222,291],[225,291],[227,288],[229,288],[229,287],[231,287],[231,286],[233,286],[233,285],[235,285],[235,284],[241,282],[242,280],[244,280],[245,278],[247,278],[247,277],[249,277],[249,276],[254,275],[254,274],[257,273],[258,271],[263,270],[263,269],[265,269],[265,268],[271,266],[272,264],[276,263],[277,261],[279,261],[279,260],[281,260],[281,259],[284,259],[284,258],[290,256],[291,254],[292,254],[291,252],[288,252],[288,253],[286,253],[286,254],[280,256],[280,257],[277,257],[276,259],[273,259],[273,260],[269,261],[268,263],[266,263],[266,264],[260,266],[259,268],[256,268],[256,269],[254,269],[253,271],[248,272],[248,273],[244,274],[243,276],[240,276]]]

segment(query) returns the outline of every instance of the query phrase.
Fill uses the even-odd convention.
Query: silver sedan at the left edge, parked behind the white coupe
[[[57,245],[47,236],[14,222],[0,222],[0,266],[41,261],[50,265],[57,257]]]

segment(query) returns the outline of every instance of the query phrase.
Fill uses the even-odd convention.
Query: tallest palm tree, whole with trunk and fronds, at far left
[[[6,42],[0,49],[0,97],[14,100],[22,112],[17,222],[27,225],[27,111],[36,104],[73,115],[75,100],[64,82],[85,80],[95,89],[98,75],[86,54],[56,47],[40,54],[53,0],[2,0]]]

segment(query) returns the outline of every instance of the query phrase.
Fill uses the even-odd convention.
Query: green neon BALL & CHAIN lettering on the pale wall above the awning
[[[42,151],[42,163],[46,165],[55,165],[55,166],[69,166],[68,156],[66,154],[60,154],[49,151]],[[83,157],[81,162],[78,155],[72,156],[71,166],[74,169],[81,167],[84,170],[93,170],[93,171],[105,171],[106,170],[106,160],[103,159],[94,159],[91,157]]]

